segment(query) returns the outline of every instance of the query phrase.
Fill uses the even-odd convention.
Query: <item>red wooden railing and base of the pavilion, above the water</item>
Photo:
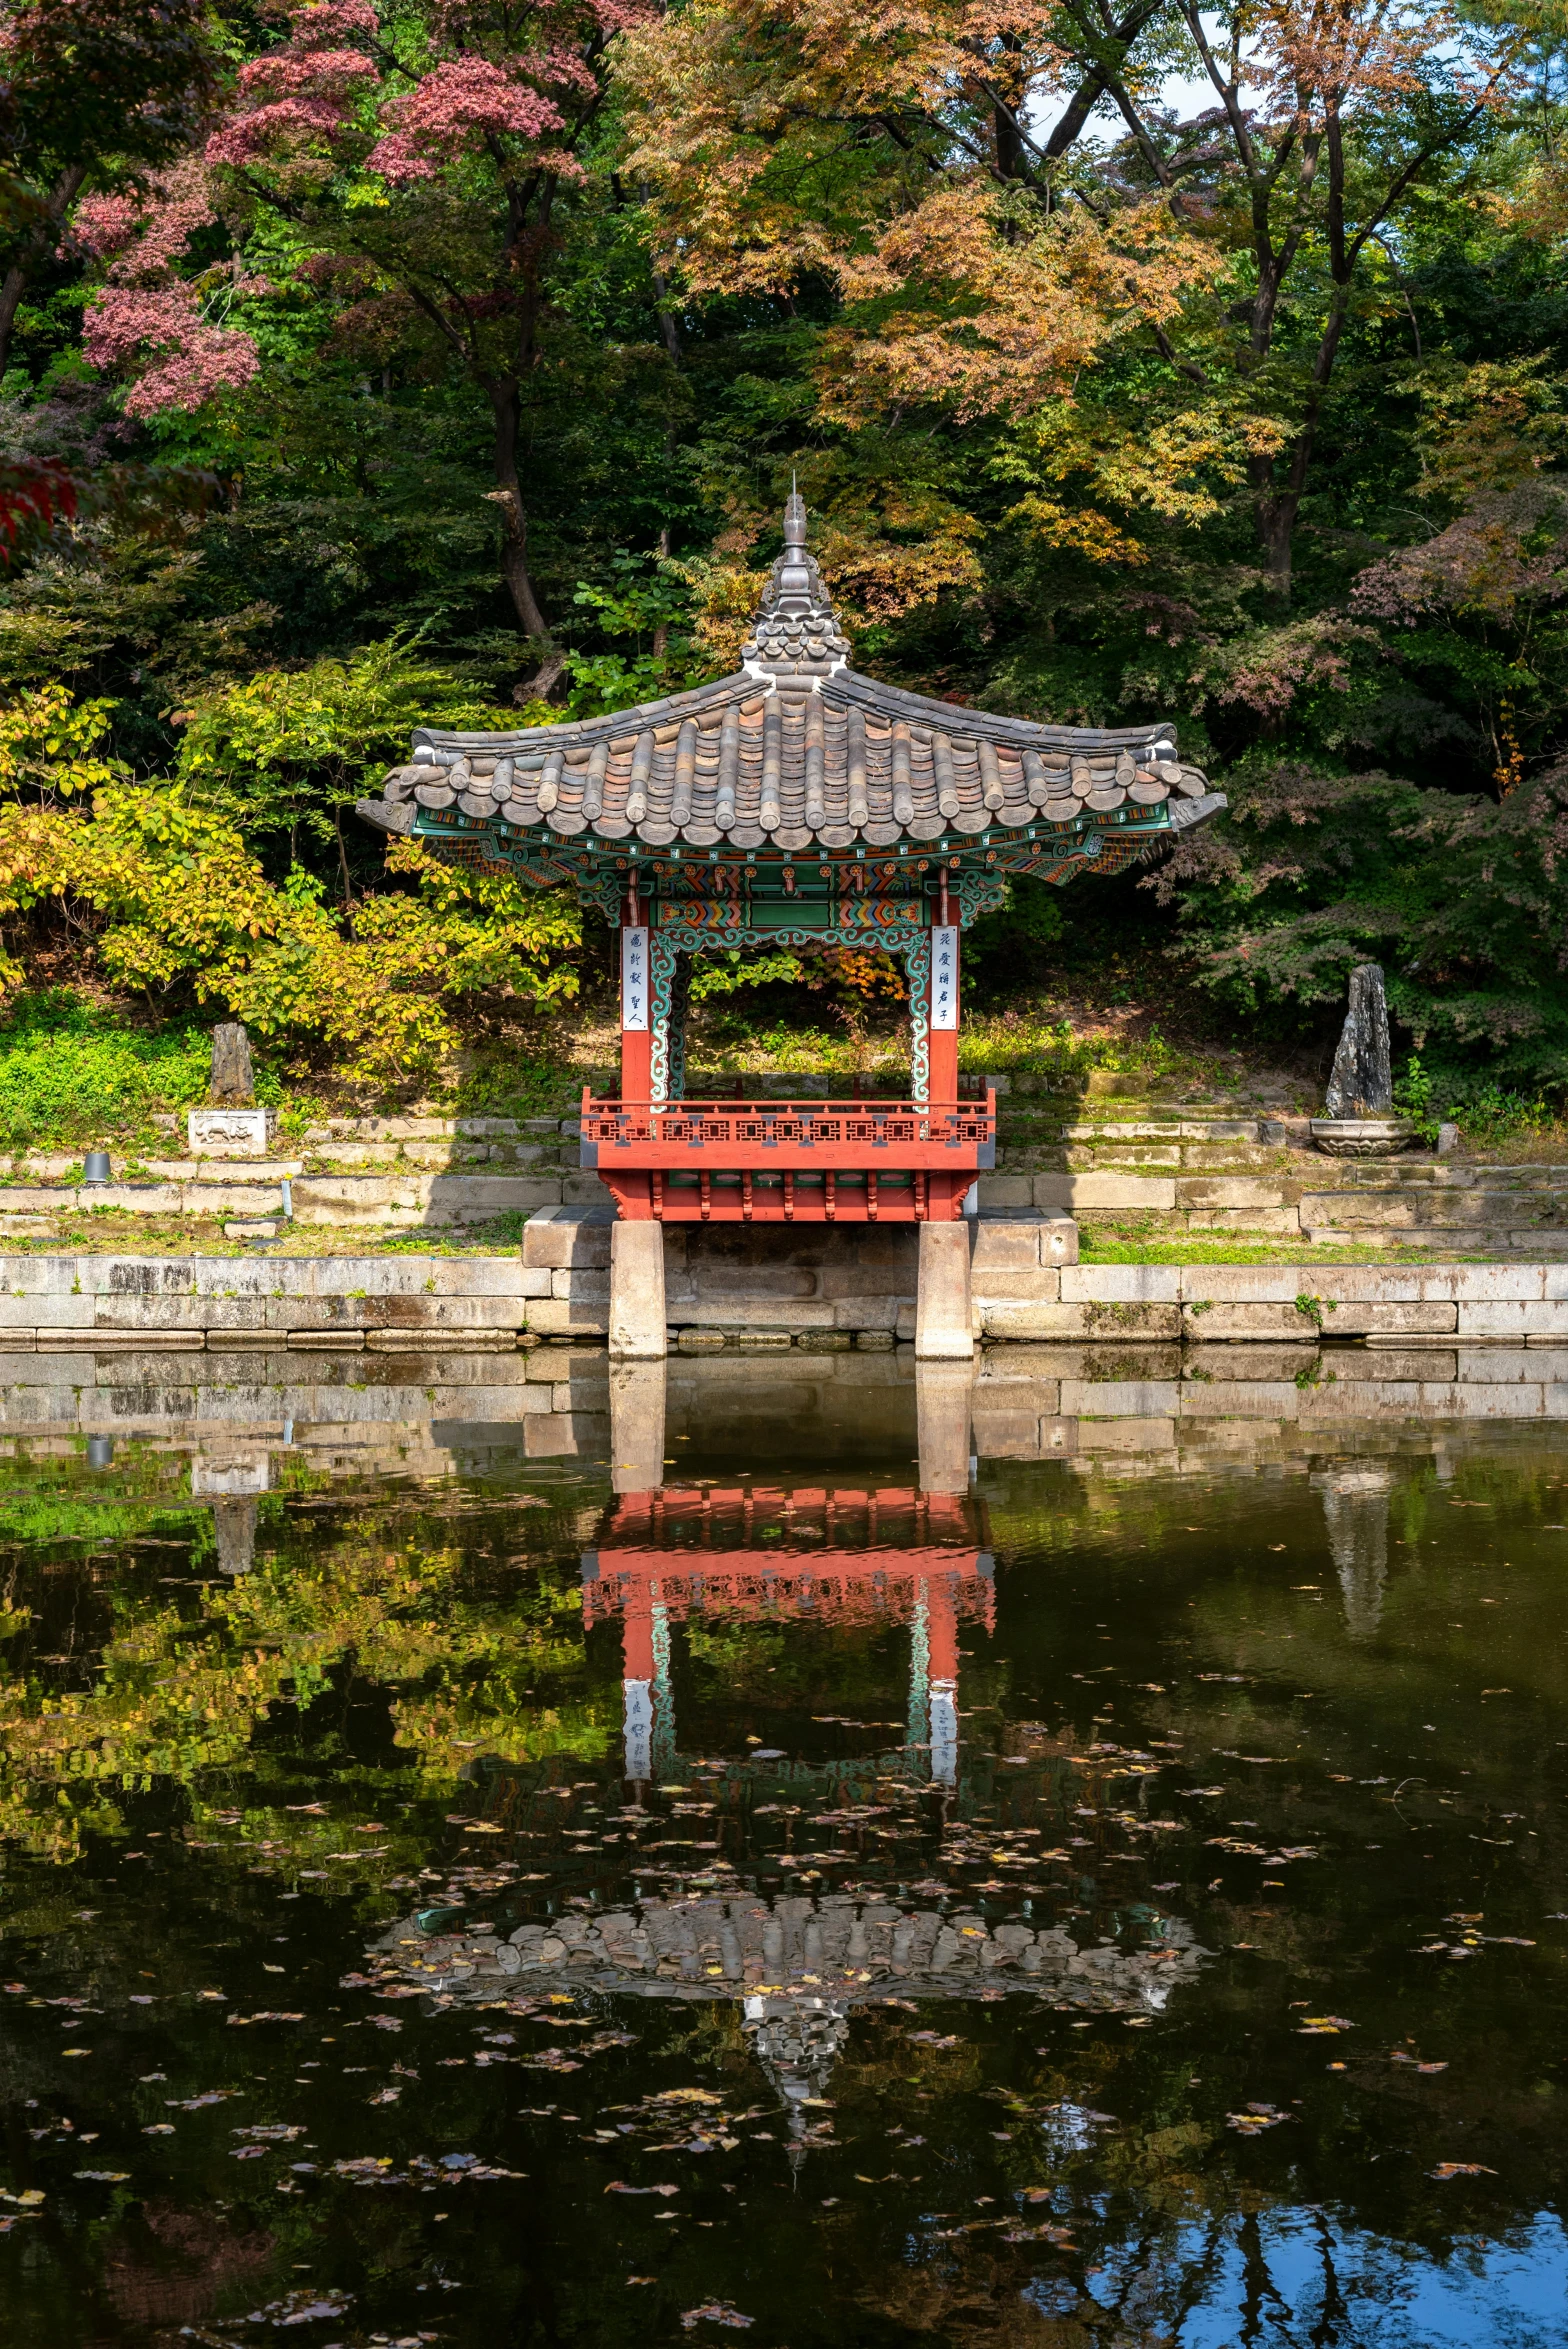
[[[946,1221],[995,1165],[984,1102],[617,1102],[582,1095],[582,1165],[622,1214]]]

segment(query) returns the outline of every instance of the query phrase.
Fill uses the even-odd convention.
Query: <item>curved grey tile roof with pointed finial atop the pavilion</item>
[[[784,552],[735,677],[608,716],[516,733],[420,726],[413,759],[359,813],[411,832],[418,808],[650,848],[892,848],[1164,808],[1185,829],[1225,801],[1178,759],[1174,726],[1035,726],[847,667],[850,646],[791,496]]]

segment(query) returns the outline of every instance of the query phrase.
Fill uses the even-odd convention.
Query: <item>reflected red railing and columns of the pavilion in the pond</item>
[[[582,1560],[582,1618],[620,1618],[627,1778],[676,1752],[669,1626],[695,1611],[908,1626],[908,1745],[958,1781],[958,1626],[995,1628],[984,1508],[918,1487],[692,1487],[622,1494]]]

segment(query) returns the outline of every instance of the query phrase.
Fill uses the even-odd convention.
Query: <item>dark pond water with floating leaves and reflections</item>
[[[5,1431],[12,2340],[1563,2340],[1561,1423],[244,1377]]]

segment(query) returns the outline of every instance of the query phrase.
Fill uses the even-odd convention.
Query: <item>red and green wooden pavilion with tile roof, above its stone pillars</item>
[[[962,1099],[958,1076],[962,930],[1019,874],[1122,871],[1225,806],[1167,723],[1035,726],[847,655],[791,498],[735,677],[519,733],[420,728],[359,801],[451,862],[575,888],[620,930],[620,1095],[584,1095],[582,1163],[627,1217],[960,1214],[995,1163],[995,1099]],[[779,947],[901,961],[906,1099],[688,1099],[692,958]]]

